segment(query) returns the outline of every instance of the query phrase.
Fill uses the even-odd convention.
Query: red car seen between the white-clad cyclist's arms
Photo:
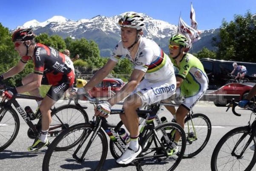
[[[96,85],[89,91],[92,97],[111,97],[116,92],[124,87],[125,83],[117,78],[105,78],[101,83]]]

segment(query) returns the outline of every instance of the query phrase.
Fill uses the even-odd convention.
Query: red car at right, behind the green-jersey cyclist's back
[[[216,106],[225,106],[233,98],[236,101],[244,99],[255,84],[251,82],[226,84],[218,90],[205,93],[204,100],[213,101]]]

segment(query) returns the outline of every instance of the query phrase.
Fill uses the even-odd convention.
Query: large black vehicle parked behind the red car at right
[[[233,63],[238,65],[243,65],[247,68],[246,78],[250,82],[256,82],[256,63],[246,63],[237,61],[226,61],[226,60],[215,60],[210,58],[200,59],[204,66],[204,71],[206,72],[209,79],[209,90],[216,90],[227,83],[232,77],[229,75],[233,71]],[[234,73],[235,75],[237,74]]]

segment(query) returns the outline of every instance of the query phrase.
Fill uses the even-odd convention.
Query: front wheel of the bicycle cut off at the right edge
[[[219,140],[211,158],[212,171],[250,171],[253,168],[256,162],[256,151],[250,150],[250,147],[256,145],[256,137],[253,137],[253,141],[240,156],[250,138],[250,131],[248,126],[234,128]]]

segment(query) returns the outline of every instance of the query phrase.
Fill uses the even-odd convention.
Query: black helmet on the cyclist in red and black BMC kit
[[[26,40],[33,40],[35,38],[35,34],[32,31],[32,28],[21,28],[16,30],[12,34],[12,42],[17,40],[26,41]]]

